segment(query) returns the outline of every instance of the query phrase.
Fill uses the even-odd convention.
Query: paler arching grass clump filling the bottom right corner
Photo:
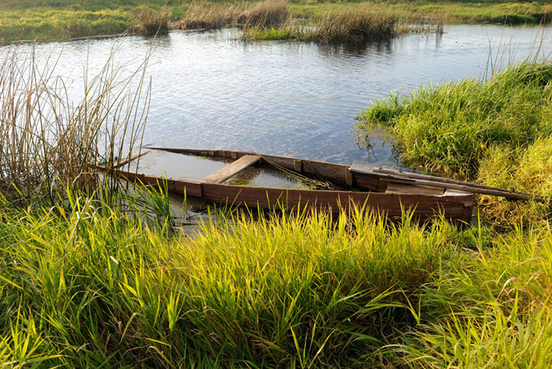
[[[424,286],[426,317],[395,346],[402,361],[413,368],[549,368],[549,228],[474,236],[474,250]]]

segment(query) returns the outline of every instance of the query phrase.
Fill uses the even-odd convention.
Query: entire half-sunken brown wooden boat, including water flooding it
[[[426,180],[436,178],[430,176],[412,179],[360,161],[346,166],[257,152],[149,148],[119,162],[117,172],[221,206],[331,212],[355,206],[389,219],[408,210],[419,221],[442,215],[456,223],[469,223],[474,206],[473,192],[462,186]]]

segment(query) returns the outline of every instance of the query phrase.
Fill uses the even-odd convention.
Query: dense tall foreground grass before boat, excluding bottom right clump
[[[2,208],[9,208],[7,203]],[[0,361],[13,366],[350,366],[409,321],[448,232],[279,215],[206,225],[193,239],[99,203],[0,217]],[[455,232],[455,231],[453,231]],[[21,341],[29,341],[26,348]],[[360,365],[362,367],[362,365]]]

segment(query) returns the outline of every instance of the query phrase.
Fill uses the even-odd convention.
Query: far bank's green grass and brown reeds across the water
[[[282,8],[282,6],[284,8]],[[416,2],[320,2],[268,0],[250,1],[192,1],[175,0],[141,1],[86,1],[75,3],[63,1],[3,1],[0,4],[3,16],[0,18],[0,39],[4,42],[17,40],[39,41],[48,39],[68,39],[90,37],[102,34],[121,34],[128,30],[139,34],[163,34],[168,28],[220,28],[223,26],[244,26],[246,37],[270,38],[270,33],[288,34],[293,39],[333,39],[337,41],[348,34],[342,28],[361,27],[361,32],[372,32],[376,37],[390,37],[385,30],[397,21],[402,23],[433,24],[444,21],[475,21],[500,24],[546,23],[551,10],[546,3],[518,1],[466,1]],[[276,12],[273,12],[273,11]],[[266,19],[261,25],[259,16],[277,15],[276,19]],[[278,13],[278,14],[276,14]],[[366,18],[366,14],[368,18]],[[290,19],[310,19],[313,24],[324,23],[319,27],[322,34],[315,36],[305,28],[293,28]],[[333,23],[335,19],[335,23]],[[371,21],[366,26],[366,19]],[[393,19],[393,21],[390,21]],[[277,24],[276,24],[277,23]],[[381,28],[378,25],[383,25]],[[255,28],[261,32],[255,32]],[[279,26],[282,26],[279,28]],[[295,25],[297,26],[297,25]],[[252,30],[253,28],[253,30]],[[277,32],[271,30],[275,28]],[[329,29],[328,29],[329,28]],[[404,31],[405,28],[398,28]],[[299,32],[300,31],[300,32]],[[397,33],[397,30],[393,30]],[[316,33],[316,32],[314,32]],[[350,41],[355,41],[358,34]],[[363,39],[366,37],[363,37]]]

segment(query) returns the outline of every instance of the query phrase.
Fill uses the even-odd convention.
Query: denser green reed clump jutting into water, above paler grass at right
[[[550,134],[552,66],[521,63],[489,81],[462,79],[377,101],[359,115],[362,126],[391,126],[407,163],[472,177],[494,143],[526,146]]]

